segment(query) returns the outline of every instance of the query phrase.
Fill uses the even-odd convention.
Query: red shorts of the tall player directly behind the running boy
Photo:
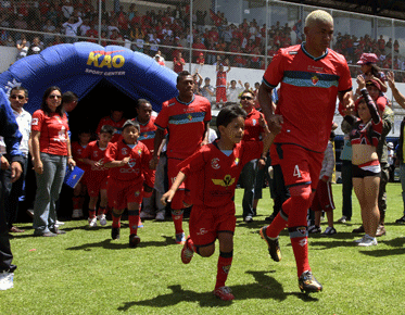
[[[172,159],[167,158],[167,177],[168,177],[168,186],[169,188],[172,187],[173,182],[176,180],[176,176],[179,173],[180,168],[178,165],[182,162],[180,159]],[[188,185],[188,179],[186,178],[179,189],[176,191],[175,196],[173,197],[172,200],[172,209],[173,210],[180,210],[186,207],[185,203],[188,205],[191,205],[191,196],[190,196],[190,190],[187,188],[189,187]]]

